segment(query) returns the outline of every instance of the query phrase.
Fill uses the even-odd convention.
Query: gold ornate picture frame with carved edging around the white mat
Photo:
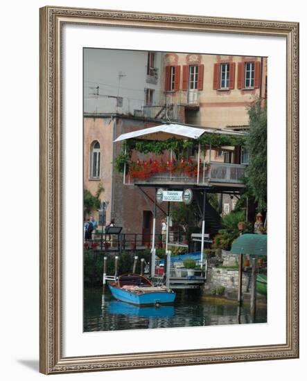
[[[286,342],[65,357],[62,305],[62,31],[65,25],[286,39]],[[40,9],[40,371],[45,374],[299,357],[299,24],[118,10]],[[80,280],[81,281],[81,280]],[[81,329],[81,328],[80,328]],[[218,329],[218,328],[217,328]],[[112,333],[110,333],[112,335]]]

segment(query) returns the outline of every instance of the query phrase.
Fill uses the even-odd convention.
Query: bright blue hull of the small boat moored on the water
[[[115,299],[132,303],[135,305],[164,304],[175,301],[175,292],[146,292],[144,294],[133,294],[128,290],[109,285],[109,290]]]

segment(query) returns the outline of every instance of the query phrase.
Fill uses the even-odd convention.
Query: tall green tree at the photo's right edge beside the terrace
[[[249,133],[245,142],[249,152],[246,185],[258,204],[267,209],[267,108],[258,99],[249,107]]]

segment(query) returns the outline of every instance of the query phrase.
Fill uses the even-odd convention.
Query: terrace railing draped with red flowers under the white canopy
[[[155,161],[157,162],[157,161]],[[130,184],[209,185],[210,183],[243,184],[246,166],[233,163],[139,163],[132,164]]]

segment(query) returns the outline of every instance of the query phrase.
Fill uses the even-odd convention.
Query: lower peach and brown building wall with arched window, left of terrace
[[[106,223],[114,218],[116,226],[123,227],[125,233],[142,233],[146,224],[150,228],[154,204],[138,188],[123,184],[123,174],[114,168],[121,145],[114,144],[113,141],[125,132],[152,125],[155,122],[116,114],[85,115],[84,118],[84,188],[95,195],[98,188],[103,186],[100,200],[107,204]],[[98,171],[93,173],[97,169],[93,163],[96,143],[100,147],[100,162]],[[154,190],[145,191],[152,200],[155,199]],[[98,211],[94,211],[93,215],[98,220]],[[157,233],[161,233],[159,226],[162,215],[158,209]]]

